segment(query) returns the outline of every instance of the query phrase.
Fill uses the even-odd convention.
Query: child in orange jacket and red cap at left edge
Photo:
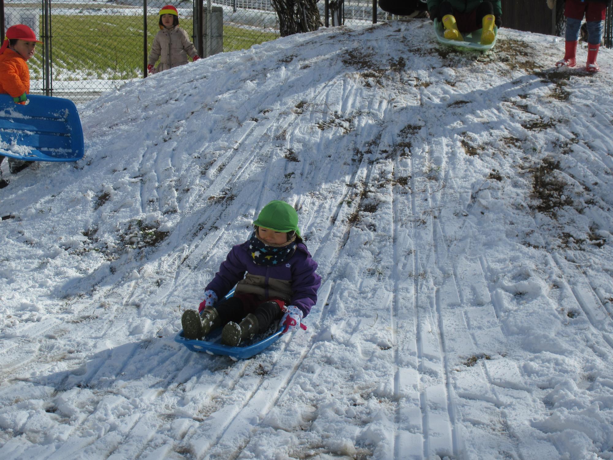
[[[15,104],[25,104],[28,99],[30,72],[26,61],[34,56],[37,43],[42,42],[36,39],[34,31],[26,25],[10,26],[6,31],[6,39],[0,48],[0,94],[9,94]],[[4,156],[0,155],[0,164],[3,160]],[[10,172],[19,172],[30,163],[9,158]],[[0,181],[0,188],[6,186],[5,182]]]

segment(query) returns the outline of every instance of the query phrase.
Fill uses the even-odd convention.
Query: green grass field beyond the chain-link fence
[[[159,31],[158,15],[147,18],[147,55]],[[180,24],[192,36],[191,18]],[[53,80],[127,80],[142,77],[143,18],[120,15],[53,15]],[[42,27],[41,27],[42,30]],[[223,50],[234,51],[274,40],[257,29],[224,26]],[[29,61],[32,79],[42,78],[42,45]]]

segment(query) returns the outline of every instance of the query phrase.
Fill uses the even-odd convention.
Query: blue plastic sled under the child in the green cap
[[[224,299],[232,297],[233,295],[234,289],[232,289]],[[238,361],[238,359],[249,359],[270,347],[270,345],[281,338],[281,332],[283,331],[283,328],[279,328],[274,334],[268,335],[268,337],[264,339],[256,340],[256,342],[246,342],[244,347],[230,347],[229,345],[223,345],[221,343],[221,329],[222,328],[217,328],[211,331],[210,334],[207,335],[207,340],[186,339],[183,337],[183,329],[181,329],[175,336],[175,342],[183,343],[183,345],[188,347],[191,351],[204,352],[209,355],[229,356],[234,359],[234,361]]]

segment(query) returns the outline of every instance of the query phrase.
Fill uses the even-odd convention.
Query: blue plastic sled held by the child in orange
[[[28,104],[21,105],[0,94],[0,155],[77,161],[84,153],[81,120],[72,101],[28,95]]]

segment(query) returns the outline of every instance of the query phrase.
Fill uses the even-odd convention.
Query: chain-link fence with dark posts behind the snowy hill
[[[28,62],[31,92],[83,102],[147,75],[147,56],[168,0],[0,0],[0,25],[29,25],[44,45]],[[270,0],[183,0],[179,25],[205,57],[279,37]],[[318,2],[322,23],[364,25],[390,20],[373,0]],[[613,9],[604,40],[613,45]],[[202,36],[197,31],[202,30]],[[4,37],[4,34],[2,34]]]

